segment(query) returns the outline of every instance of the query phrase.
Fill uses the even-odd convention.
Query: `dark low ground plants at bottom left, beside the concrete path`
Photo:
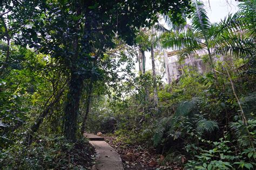
[[[60,136],[39,135],[30,146],[19,144],[3,149],[0,153],[0,166],[14,169],[41,168],[89,168],[94,160],[93,148],[87,140],[69,143]]]

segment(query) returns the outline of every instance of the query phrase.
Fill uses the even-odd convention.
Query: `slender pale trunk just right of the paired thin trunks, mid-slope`
[[[158,95],[157,95],[157,77],[156,77],[156,65],[154,63],[154,46],[153,46],[153,28],[152,28],[152,42],[151,42],[151,60],[152,60],[152,76],[154,85],[154,107],[157,108],[158,105]]]

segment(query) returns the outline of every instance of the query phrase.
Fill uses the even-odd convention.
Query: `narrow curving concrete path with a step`
[[[122,159],[107,142],[103,141],[102,137],[93,134],[84,134],[90,139],[90,144],[95,147],[97,153],[96,164],[92,167],[93,170],[123,170]],[[96,139],[96,140],[93,140]],[[99,140],[100,139],[100,140]]]

